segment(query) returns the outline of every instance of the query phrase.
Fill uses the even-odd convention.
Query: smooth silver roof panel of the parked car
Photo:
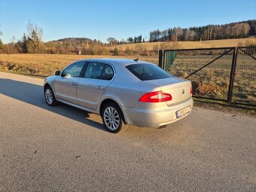
[[[115,65],[126,66],[126,65],[129,65],[129,64],[146,63],[145,61],[142,61],[142,60],[135,61],[133,59],[81,59],[79,61],[84,61],[84,62],[106,62],[106,63],[110,63],[114,66]]]

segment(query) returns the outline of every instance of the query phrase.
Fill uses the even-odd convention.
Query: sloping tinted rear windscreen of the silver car
[[[168,72],[163,71],[160,67],[152,64],[132,64],[126,66],[130,72],[133,73],[137,78],[142,81],[161,79],[161,78],[172,78],[172,75],[169,75]]]

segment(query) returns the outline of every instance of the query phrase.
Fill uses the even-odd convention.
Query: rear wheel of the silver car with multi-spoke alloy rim
[[[108,132],[118,133],[123,130],[123,113],[116,103],[110,102],[104,105],[101,116],[105,129],[108,130]]]

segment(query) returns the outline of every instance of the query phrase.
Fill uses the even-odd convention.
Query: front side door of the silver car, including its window
[[[84,62],[75,62],[64,69],[54,81],[56,99],[72,104],[77,102],[77,84]]]

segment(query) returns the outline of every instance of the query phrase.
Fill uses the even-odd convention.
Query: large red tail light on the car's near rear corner
[[[145,93],[139,102],[167,102],[172,100],[172,95],[169,93],[163,93],[163,91],[154,91],[151,93]]]

